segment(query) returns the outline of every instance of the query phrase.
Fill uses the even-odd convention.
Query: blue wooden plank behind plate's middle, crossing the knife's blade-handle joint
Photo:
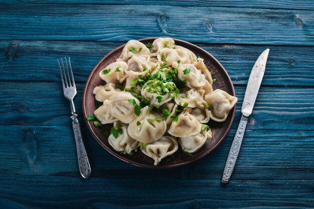
[[[77,84],[79,115],[83,88],[84,84]],[[235,90],[239,98],[235,121],[239,121],[245,87],[236,86]],[[313,102],[312,88],[262,86],[247,128],[313,129]],[[0,124],[71,125],[69,101],[63,96],[61,83],[0,82],[0,115],[6,118]]]

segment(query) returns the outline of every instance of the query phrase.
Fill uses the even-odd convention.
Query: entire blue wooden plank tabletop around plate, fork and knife
[[[0,0],[0,208],[314,207],[311,0]],[[81,118],[92,175],[80,177],[57,58],[70,56],[82,115],[93,66],[129,39],[193,42],[227,69],[239,98],[226,139],[186,166],[155,170],[103,149]],[[270,48],[228,184],[225,160],[251,68]]]

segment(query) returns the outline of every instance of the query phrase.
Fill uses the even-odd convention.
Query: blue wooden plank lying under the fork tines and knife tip
[[[0,41],[0,81],[59,82],[56,59],[70,56],[76,82],[85,82],[96,63],[123,43],[125,42],[3,40]],[[314,86],[313,47],[198,45],[225,66],[234,84],[247,83],[255,60],[268,47],[270,53],[262,85]]]

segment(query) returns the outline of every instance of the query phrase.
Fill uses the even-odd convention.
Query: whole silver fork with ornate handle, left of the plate
[[[64,66],[62,58],[60,58],[61,64],[60,64],[59,59],[57,60],[58,60],[59,68],[60,68],[63,94],[67,99],[70,100],[70,104],[71,104],[72,116],[70,118],[72,119],[72,126],[73,126],[75,142],[76,142],[76,152],[77,152],[77,159],[78,159],[78,164],[80,168],[80,173],[83,178],[88,178],[90,175],[91,169],[90,169],[88,157],[86,154],[86,150],[84,147],[84,143],[82,140],[81,127],[77,119],[77,114],[75,113],[75,106],[74,106],[73,98],[76,95],[76,87],[75,87],[70,57],[68,58],[69,58],[69,61],[67,61],[67,57],[64,57],[65,66]],[[68,62],[69,62],[69,66],[68,66]],[[70,68],[70,72],[69,72],[69,68]]]

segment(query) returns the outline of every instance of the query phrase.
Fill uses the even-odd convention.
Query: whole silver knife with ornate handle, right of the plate
[[[252,68],[249,81],[247,83],[247,87],[245,90],[242,108],[241,108],[241,112],[242,112],[241,120],[237,129],[237,132],[232,141],[232,145],[228,154],[224,173],[222,176],[221,181],[223,183],[227,183],[229,181],[231,173],[237,161],[242,139],[243,139],[245,128],[246,128],[246,123],[249,118],[249,115],[252,113],[256,96],[259,90],[259,86],[263,79],[268,53],[269,53],[269,48],[264,50],[263,53],[259,55],[258,59],[256,60]]]

